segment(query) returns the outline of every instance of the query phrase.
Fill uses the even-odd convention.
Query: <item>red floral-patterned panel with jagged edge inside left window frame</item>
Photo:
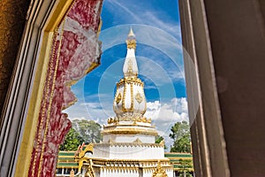
[[[72,126],[62,113],[76,101],[70,85],[99,63],[101,46],[96,34],[101,8],[102,0],[74,1],[54,37],[28,176],[55,176],[59,144]]]

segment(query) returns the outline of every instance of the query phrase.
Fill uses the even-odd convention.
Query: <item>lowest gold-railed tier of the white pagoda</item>
[[[83,164],[82,176],[94,177],[155,177],[173,176],[168,158],[163,159],[107,159],[89,158]]]

